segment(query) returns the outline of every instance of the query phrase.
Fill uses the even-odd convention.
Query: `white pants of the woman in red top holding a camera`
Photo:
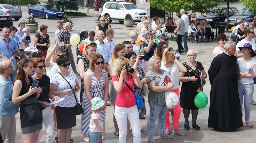
[[[114,113],[119,128],[119,142],[126,143],[127,118],[131,124],[133,143],[141,142],[140,118],[137,105],[131,108],[115,106]]]

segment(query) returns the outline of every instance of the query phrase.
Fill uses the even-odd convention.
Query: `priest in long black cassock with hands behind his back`
[[[229,41],[208,70],[211,87],[208,127],[214,130],[243,126],[238,95],[236,43]]]

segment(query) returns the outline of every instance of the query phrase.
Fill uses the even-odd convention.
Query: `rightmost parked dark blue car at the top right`
[[[253,21],[253,12],[248,11],[248,8],[241,9],[239,12],[228,18],[229,26],[237,26],[238,20],[250,18]],[[225,19],[227,23],[227,18]]]

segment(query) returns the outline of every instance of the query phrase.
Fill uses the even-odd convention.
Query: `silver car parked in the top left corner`
[[[0,4],[0,11],[14,18],[16,21],[18,21],[19,18],[22,17],[22,11],[9,4]]]

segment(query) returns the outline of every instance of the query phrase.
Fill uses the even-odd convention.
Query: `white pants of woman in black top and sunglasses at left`
[[[51,106],[43,110],[43,123],[46,129],[46,143],[53,143],[53,113]],[[40,130],[38,143],[42,138],[42,130]]]

